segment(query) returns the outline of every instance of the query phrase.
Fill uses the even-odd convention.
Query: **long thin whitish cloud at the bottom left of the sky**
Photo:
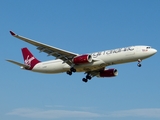
[[[84,111],[70,111],[70,110],[41,110],[41,109],[26,109],[19,108],[14,109],[12,112],[7,113],[7,115],[17,115],[21,117],[28,118],[44,118],[44,119],[54,119],[54,118],[94,118],[100,117],[100,114]]]

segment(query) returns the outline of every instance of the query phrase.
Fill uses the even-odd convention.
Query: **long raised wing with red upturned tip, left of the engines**
[[[78,55],[76,53],[72,53],[72,52],[69,52],[69,51],[66,51],[66,50],[62,50],[62,49],[59,49],[59,48],[56,48],[56,47],[52,47],[52,46],[49,46],[47,44],[40,43],[40,42],[37,42],[35,40],[31,40],[29,38],[17,35],[12,31],[10,31],[10,33],[11,33],[12,36],[14,36],[14,37],[16,37],[16,38],[18,38],[22,41],[25,41],[29,44],[32,44],[32,45],[36,46],[37,49],[40,50],[40,52],[45,52],[45,53],[48,54],[48,56],[52,55],[52,56],[56,57],[56,59],[61,59],[61,60],[64,61],[64,63],[67,63],[69,65],[72,65],[72,59],[75,56]]]

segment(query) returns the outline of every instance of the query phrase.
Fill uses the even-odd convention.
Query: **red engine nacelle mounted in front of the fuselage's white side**
[[[76,56],[73,58],[72,62],[74,64],[90,63],[92,62],[92,56],[91,55]]]

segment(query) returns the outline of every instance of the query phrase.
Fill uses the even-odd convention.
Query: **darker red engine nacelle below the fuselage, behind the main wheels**
[[[99,76],[100,77],[114,77],[118,75],[117,69],[108,69],[104,71],[100,71]]]

